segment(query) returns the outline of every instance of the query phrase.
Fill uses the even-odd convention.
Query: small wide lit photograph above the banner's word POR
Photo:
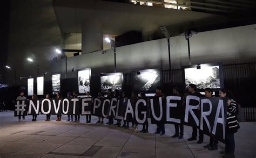
[[[107,92],[107,89],[122,90],[122,73],[104,74],[100,76],[100,87],[102,92]]]

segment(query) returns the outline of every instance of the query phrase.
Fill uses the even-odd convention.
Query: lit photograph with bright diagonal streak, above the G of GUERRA
[[[133,90],[154,91],[160,85],[158,69],[140,70],[133,75]]]

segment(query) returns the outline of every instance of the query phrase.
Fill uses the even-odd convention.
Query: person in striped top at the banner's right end
[[[221,151],[221,154],[225,154],[225,157],[234,157],[235,141],[234,133],[237,133],[239,127],[237,121],[237,103],[234,100],[232,93],[226,89],[220,89],[220,97],[227,97],[227,120],[225,131],[225,150]]]

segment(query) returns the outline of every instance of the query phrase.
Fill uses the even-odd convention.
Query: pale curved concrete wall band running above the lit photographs
[[[255,60],[255,27],[256,25],[248,25],[200,32],[192,35],[190,38],[191,63]],[[170,42],[172,66],[188,65],[187,41],[185,37],[172,37]],[[169,67],[166,39],[118,47],[116,52],[118,71]],[[113,51],[109,49],[106,51],[106,54],[98,51],[69,58],[69,77],[76,77],[76,73],[71,72],[73,67],[91,68],[92,74],[113,72]]]

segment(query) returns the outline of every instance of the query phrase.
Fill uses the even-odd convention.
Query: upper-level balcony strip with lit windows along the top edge
[[[217,0],[208,0],[198,2],[193,0],[103,0],[111,2],[132,3],[136,5],[158,6],[162,8],[171,8],[178,10],[193,10],[211,13],[255,13],[255,2],[224,2]]]

